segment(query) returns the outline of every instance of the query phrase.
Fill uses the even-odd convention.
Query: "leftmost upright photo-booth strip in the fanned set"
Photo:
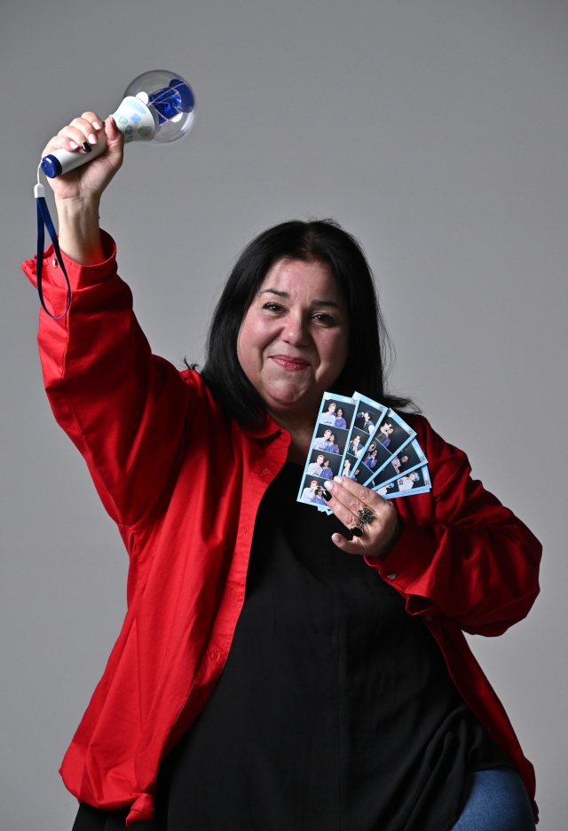
[[[339,475],[351,422],[355,417],[355,406],[352,398],[329,392],[323,394],[298,502],[326,510],[320,491],[325,482]]]

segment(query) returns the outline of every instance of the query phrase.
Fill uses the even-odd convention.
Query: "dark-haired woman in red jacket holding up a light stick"
[[[105,153],[51,180],[73,294],[39,333],[53,412],[130,553],[122,631],[61,768],[75,831],[533,828],[532,765],[462,630],[527,614],[539,543],[412,413],[430,493],[395,506],[336,477],[333,516],[296,502],[325,390],[408,404],[384,387],[358,244],[330,222],[264,231],[203,372],[178,372],[99,230],[112,119],[83,114],[45,153],[95,141]],[[51,250],[43,268],[59,313]]]

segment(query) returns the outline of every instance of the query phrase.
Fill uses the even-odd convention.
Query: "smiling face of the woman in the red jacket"
[[[313,418],[348,344],[348,311],[328,266],[282,259],[245,315],[237,355],[269,412]]]

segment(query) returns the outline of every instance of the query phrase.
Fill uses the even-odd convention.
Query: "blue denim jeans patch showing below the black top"
[[[535,831],[525,786],[510,768],[470,773],[464,797],[452,831]]]

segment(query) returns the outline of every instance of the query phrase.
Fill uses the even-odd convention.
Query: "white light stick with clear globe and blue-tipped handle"
[[[138,75],[130,83],[113,118],[124,134],[126,144],[132,141],[170,144],[186,136],[192,129],[195,121],[195,96],[181,75],[153,69]],[[91,145],[91,153],[54,150],[43,156],[41,169],[45,176],[55,178],[88,164],[105,150],[104,137],[100,137],[96,145]]]

